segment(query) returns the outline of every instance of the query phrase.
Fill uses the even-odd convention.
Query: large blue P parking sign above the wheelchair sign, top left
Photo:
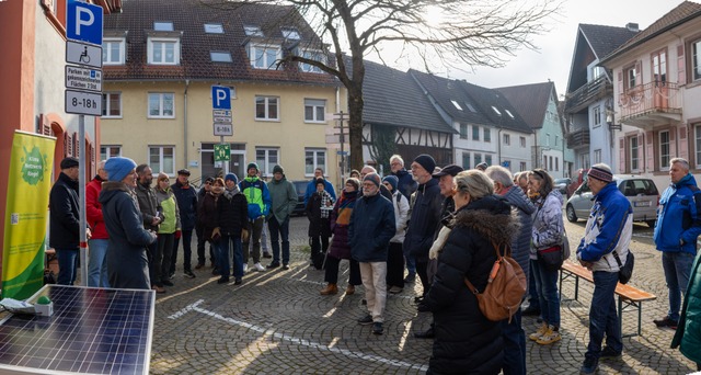
[[[102,45],[102,7],[69,0],[67,9],[66,37]]]

